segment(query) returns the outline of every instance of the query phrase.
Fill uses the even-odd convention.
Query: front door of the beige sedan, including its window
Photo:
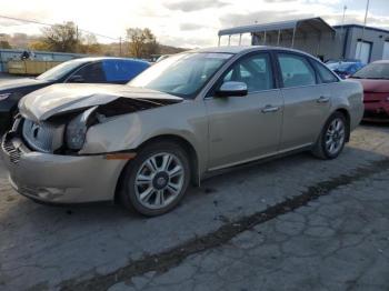
[[[209,97],[209,169],[276,153],[280,141],[282,97],[275,89],[268,53],[242,57],[218,82],[245,82],[246,97]]]

